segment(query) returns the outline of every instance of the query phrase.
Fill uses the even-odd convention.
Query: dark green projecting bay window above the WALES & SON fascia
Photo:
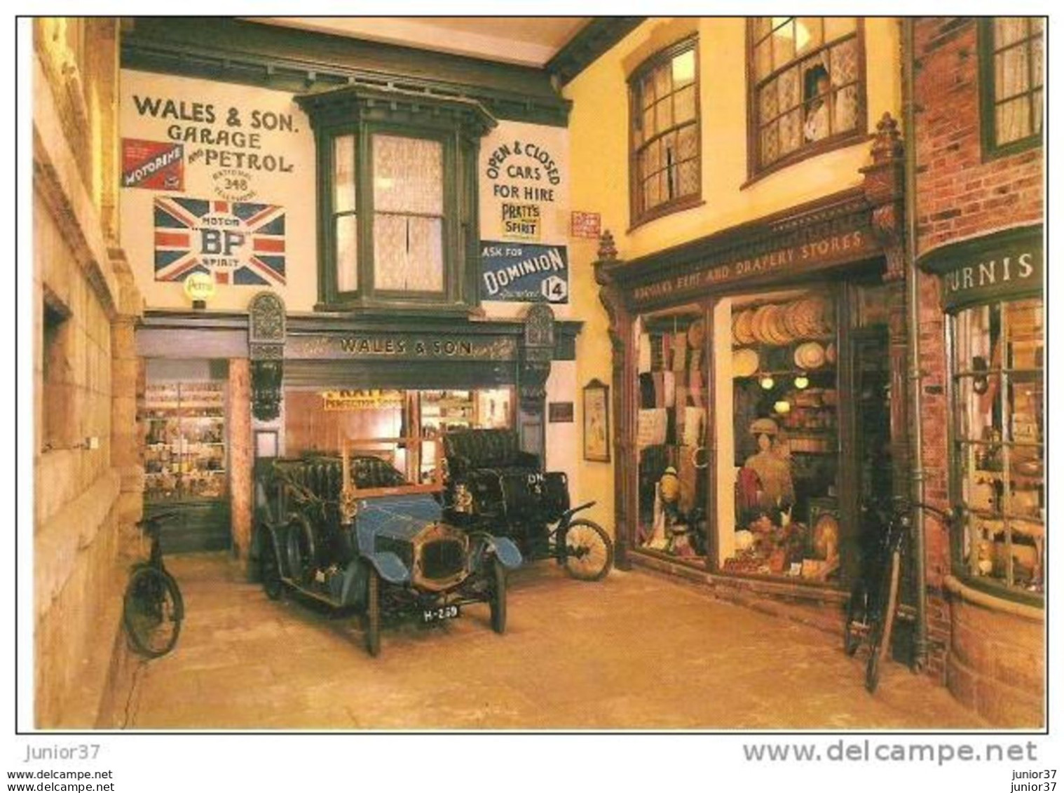
[[[302,95],[318,149],[319,310],[468,313],[477,160],[496,121],[461,98],[355,84]]]

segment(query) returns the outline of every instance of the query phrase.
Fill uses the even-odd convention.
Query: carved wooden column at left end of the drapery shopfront
[[[614,539],[614,565],[630,569],[628,550],[638,514],[635,448],[635,362],[628,350],[632,318],[624,297],[613,280],[613,269],[620,265],[613,235],[605,231],[599,241],[598,260],[595,262],[595,281],[599,284],[599,301],[610,318],[610,343],[613,347],[613,476],[616,536]]]

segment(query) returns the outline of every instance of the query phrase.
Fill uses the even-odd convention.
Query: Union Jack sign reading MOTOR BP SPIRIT
[[[216,283],[285,283],[284,208],[155,198],[155,280],[206,272]]]

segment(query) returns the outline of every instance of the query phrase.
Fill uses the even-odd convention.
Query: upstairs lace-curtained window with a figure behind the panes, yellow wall
[[[863,45],[854,17],[748,21],[751,177],[864,133]]]

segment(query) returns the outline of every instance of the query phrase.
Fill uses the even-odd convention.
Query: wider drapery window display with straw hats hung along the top
[[[834,299],[818,292],[735,298],[731,325],[735,525],[722,567],[833,581],[841,543]]]

